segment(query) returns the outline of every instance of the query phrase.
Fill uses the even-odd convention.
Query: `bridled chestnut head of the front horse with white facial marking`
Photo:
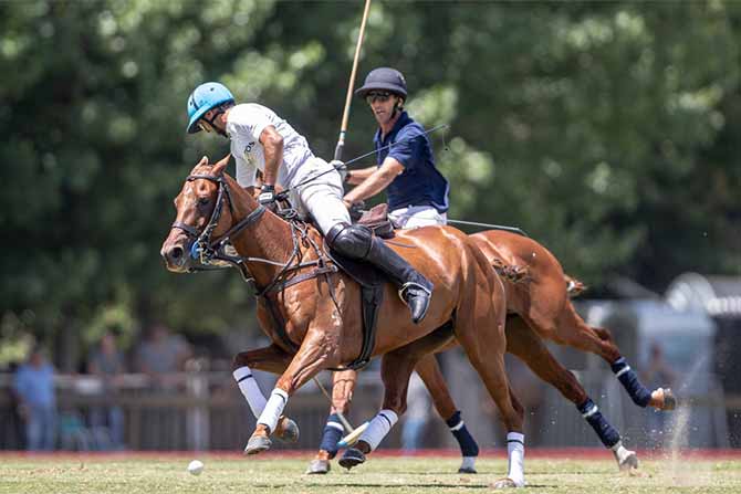
[[[175,222],[160,250],[169,271],[192,271],[197,261],[202,262],[202,256],[212,251],[212,239],[219,239],[233,224],[229,178],[223,172],[228,162],[229,156],[215,165],[201,158],[175,198]]]

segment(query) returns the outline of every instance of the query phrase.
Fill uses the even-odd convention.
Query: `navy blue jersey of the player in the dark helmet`
[[[404,171],[388,186],[388,209],[408,206],[432,206],[438,212],[448,211],[448,180],[435,168],[435,156],[427,134],[421,125],[413,120],[406,112],[385,139],[380,129],[373,139],[376,146],[378,166],[387,156],[404,165]],[[379,150],[393,144],[389,149]]]

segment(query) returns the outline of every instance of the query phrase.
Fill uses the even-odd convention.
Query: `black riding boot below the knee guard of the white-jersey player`
[[[365,259],[386,273],[399,288],[399,296],[411,311],[411,322],[418,324],[424,319],[432,296],[432,283],[376,237]]]

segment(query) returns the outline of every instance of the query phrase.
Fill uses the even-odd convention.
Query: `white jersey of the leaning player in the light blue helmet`
[[[231,154],[237,160],[237,181],[242,187],[253,186],[258,169],[265,170],[260,134],[269,125],[283,137],[283,162],[278,169],[278,185],[283,188],[293,186],[299,167],[314,157],[306,138],[272,109],[257,103],[237,105],[227,115],[227,135],[231,139]]]

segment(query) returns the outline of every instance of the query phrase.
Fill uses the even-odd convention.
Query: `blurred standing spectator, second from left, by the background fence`
[[[107,428],[113,449],[124,445],[124,411],[113,404],[118,393],[121,375],[126,371],[124,356],[116,346],[116,337],[108,332],[90,354],[87,371],[103,380],[104,407],[93,408],[90,422],[93,428]]]

